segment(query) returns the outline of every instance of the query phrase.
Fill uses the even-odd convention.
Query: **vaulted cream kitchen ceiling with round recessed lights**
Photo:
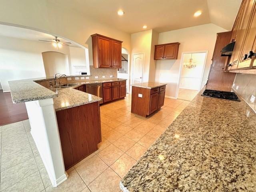
[[[157,32],[213,23],[231,30],[242,0],[48,0],[127,33]],[[123,16],[117,11],[124,10]],[[202,15],[194,17],[194,13]],[[88,26],[89,27],[89,26]]]

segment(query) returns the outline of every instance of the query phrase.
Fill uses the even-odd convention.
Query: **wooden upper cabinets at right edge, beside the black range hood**
[[[230,42],[235,41],[228,63],[230,72],[254,73],[256,55],[256,2],[243,0],[236,16]]]

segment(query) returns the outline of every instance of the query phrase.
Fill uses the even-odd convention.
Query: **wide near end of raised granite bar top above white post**
[[[34,82],[38,79],[9,81],[9,87],[14,103],[49,99],[57,96],[55,92]]]

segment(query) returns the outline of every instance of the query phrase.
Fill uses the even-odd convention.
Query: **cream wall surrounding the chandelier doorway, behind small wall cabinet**
[[[224,31],[226,30],[214,24],[205,24],[159,34],[158,44],[180,42],[177,60],[158,60],[156,62],[155,81],[167,83],[166,96],[175,98],[177,95],[176,89],[179,81],[182,52],[208,50],[202,86],[206,84],[210,65],[212,64],[211,58],[214,51],[216,33]]]

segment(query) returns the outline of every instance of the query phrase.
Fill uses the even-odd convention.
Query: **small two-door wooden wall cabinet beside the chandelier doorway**
[[[154,60],[177,59],[180,43],[155,45]]]

